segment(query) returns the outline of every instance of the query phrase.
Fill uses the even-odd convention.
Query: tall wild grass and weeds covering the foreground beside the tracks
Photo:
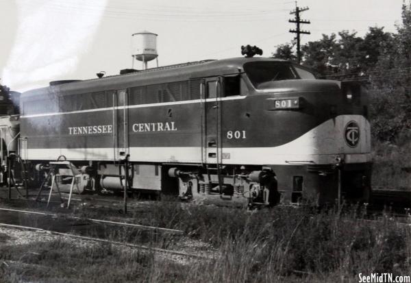
[[[184,230],[211,245],[213,258],[180,264],[155,253],[55,241],[0,246],[0,262],[38,264],[51,273],[23,266],[0,272],[10,282],[358,282],[358,273],[411,274],[410,225],[389,214],[370,221],[365,209],[283,206],[249,212],[158,201],[144,217],[135,215],[138,222]],[[130,241],[132,233],[113,235]],[[186,238],[153,237],[148,244],[175,249],[182,241]],[[23,256],[27,252],[41,256]]]

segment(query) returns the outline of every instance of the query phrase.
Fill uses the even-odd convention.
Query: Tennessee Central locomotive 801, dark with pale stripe
[[[81,190],[267,205],[369,195],[360,86],[315,79],[284,60],[208,60],[53,84],[21,95],[20,121],[21,158],[34,167],[65,156],[82,168]]]

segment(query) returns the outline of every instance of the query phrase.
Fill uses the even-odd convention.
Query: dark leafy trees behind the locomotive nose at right
[[[293,45],[279,45],[273,56],[295,58]],[[303,65],[323,79],[364,82],[371,96],[373,138],[395,143],[411,134],[411,5],[404,4],[397,32],[369,27],[364,37],[343,30],[302,47]]]

